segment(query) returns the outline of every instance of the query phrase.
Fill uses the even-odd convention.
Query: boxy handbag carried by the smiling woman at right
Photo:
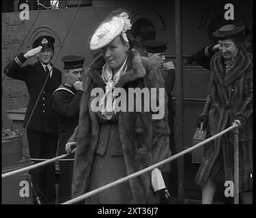
[[[197,128],[193,137],[193,146],[206,139],[207,129],[203,129],[203,122],[200,128]],[[192,151],[192,163],[201,163],[203,158],[203,145]]]

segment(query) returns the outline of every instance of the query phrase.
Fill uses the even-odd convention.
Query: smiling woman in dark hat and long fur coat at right
[[[239,134],[239,189],[243,203],[252,203],[253,191],[253,61],[244,48],[244,27],[225,25],[213,33],[220,52],[211,59],[207,102],[197,125],[208,126],[209,137],[236,120]],[[233,181],[233,131],[205,146],[195,182],[203,204],[210,204],[216,185]]]

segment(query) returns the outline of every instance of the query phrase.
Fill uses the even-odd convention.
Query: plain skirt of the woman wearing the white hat
[[[106,153],[103,156],[98,155],[97,153],[94,155],[94,161],[91,166],[89,191],[127,176],[124,156],[112,155],[112,144],[110,142],[113,142],[113,140],[108,140]],[[122,146],[122,144],[120,144],[120,146]],[[101,191],[100,193],[87,198],[85,204],[132,204],[130,184],[126,181]]]

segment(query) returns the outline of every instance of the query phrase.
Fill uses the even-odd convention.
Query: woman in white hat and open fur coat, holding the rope
[[[83,76],[79,126],[69,140],[77,143],[72,198],[171,156],[165,92],[164,104],[160,104],[158,93],[153,99],[156,105],[160,102],[165,113],[159,119],[152,119],[158,112],[143,111],[143,103],[142,112],[116,112],[116,98],[109,97],[111,91],[123,88],[128,108],[131,104],[128,89],[156,88],[159,91],[164,87],[157,67],[141,57],[137,50],[130,49],[126,35],[130,27],[126,12],[112,12],[91,37],[91,50],[100,49],[102,54],[87,67]],[[91,92],[95,88],[104,90],[104,96],[98,96],[100,111],[95,110],[96,96]],[[137,96],[132,101],[135,103],[136,99]],[[147,100],[145,102],[149,102]],[[106,110],[108,106],[110,110]],[[158,198],[152,189],[151,172],[147,172],[91,196],[85,203],[154,204],[158,203]]]

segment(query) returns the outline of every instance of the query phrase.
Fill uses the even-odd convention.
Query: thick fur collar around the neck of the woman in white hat
[[[101,77],[102,67],[105,64],[104,58],[102,55],[99,55],[94,59],[94,61],[89,65],[87,69],[87,75],[94,81],[97,87],[104,89],[105,84]],[[124,87],[128,82],[132,82],[139,78],[143,78],[146,74],[145,67],[143,65],[143,58],[139,55],[137,50],[131,49],[128,52],[127,59],[128,69],[126,74],[123,74],[119,81],[116,84],[116,87]]]

